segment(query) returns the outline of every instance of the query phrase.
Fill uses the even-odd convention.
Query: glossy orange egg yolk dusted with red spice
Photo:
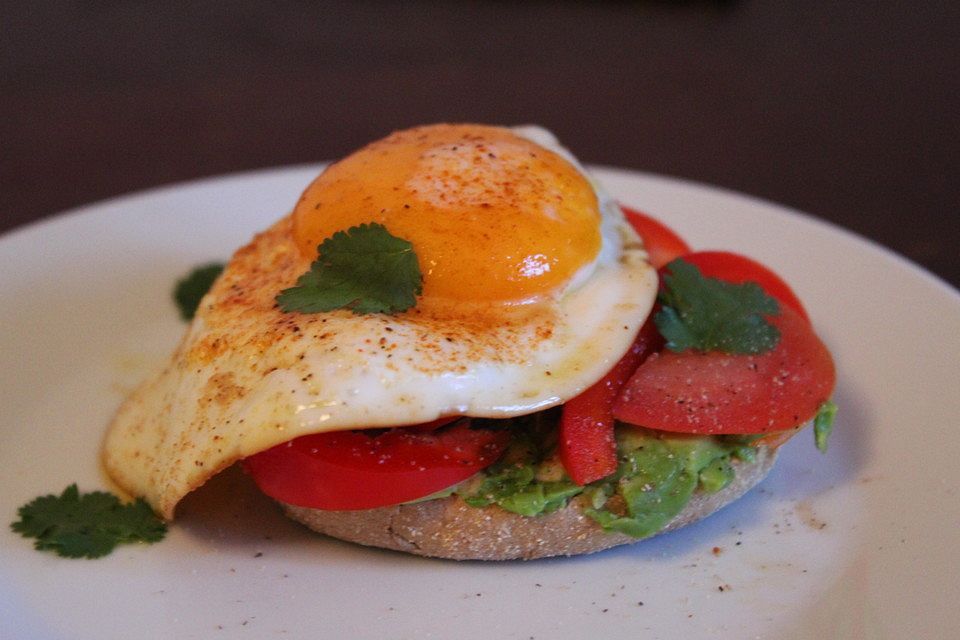
[[[331,165],[293,214],[311,260],[337,231],[379,222],[413,244],[424,299],[516,303],[562,289],[600,250],[600,211],[570,162],[509,129],[396,132]]]

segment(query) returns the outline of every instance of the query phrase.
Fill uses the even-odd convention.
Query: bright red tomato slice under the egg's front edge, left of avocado
[[[268,496],[331,511],[374,509],[416,500],[492,464],[507,431],[473,429],[461,419],[434,431],[336,431],[302,436],[244,461]]]

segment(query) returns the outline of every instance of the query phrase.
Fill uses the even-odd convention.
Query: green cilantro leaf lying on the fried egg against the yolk
[[[394,313],[416,304],[423,290],[413,245],[382,224],[337,231],[317,251],[319,257],[296,286],[277,296],[283,311]]]

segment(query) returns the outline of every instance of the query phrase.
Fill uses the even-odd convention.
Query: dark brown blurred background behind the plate
[[[3,2],[0,231],[431,121],[774,200],[960,286],[960,3]]]

